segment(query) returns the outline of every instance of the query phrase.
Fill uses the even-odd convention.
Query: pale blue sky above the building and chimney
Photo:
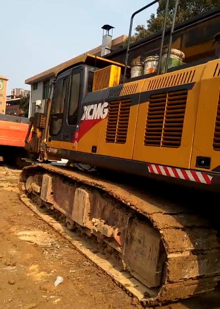
[[[101,44],[104,24],[113,38],[128,34],[131,14],[150,0],[8,0],[1,8],[0,75],[11,88],[29,89],[24,80]],[[157,5],[137,15],[145,24]],[[3,13],[3,14],[2,14]]]

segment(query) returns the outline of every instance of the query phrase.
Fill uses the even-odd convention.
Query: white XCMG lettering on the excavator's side
[[[81,120],[94,120],[94,119],[105,119],[108,114],[108,103],[98,103],[92,105],[85,105],[84,114]]]

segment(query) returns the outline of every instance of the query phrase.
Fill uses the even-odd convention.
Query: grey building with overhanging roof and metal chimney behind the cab
[[[107,28],[106,28],[107,27]],[[106,54],[111,51],[115,51],[121,47],[123,47],[123,43],[127,36],[122,35],[114,40],[112,40],[112,35],[109,35],[109,27],[111,26],[105,25],[102,27],[103,31],[106,30],[106,34],[103,35],[103,43],[102,45],[89,50],[87,53],[100,56],[101,54]],[[107,46],[106,44],[111,44]],[[55,77],[55,71],[57,69],[61,69],[63,64],[71,61],[72,59],[60,63],[42,73],[39,73],[27,80],[25,80],[25,84],[31,85],[31,94],[30,94],[30,105],[29,105],[29,117],[33,116],[35,112],[42,112],[44,110],[45,100],[49,96],[50,91],[50,83]],[[37,102],[37,106],[36,106]],[[39,104],[40,102],[40,104]]]

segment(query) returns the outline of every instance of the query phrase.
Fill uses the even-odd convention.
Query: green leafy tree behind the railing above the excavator
[[[138,25],[135,33],[131,37],[131,43],[143,39],[149,35],[160,32],[164,24],[164,15],[167,0],[160,0],[157,14],[151,14],[151,17],[144,25]],[[176,0],[169,1],[167,27],[170,27],[173,20],[173,13]],[[191,17],[202,14],[214,8],[220,7],[220,0],[179,0],[175,23],[181,23]]]

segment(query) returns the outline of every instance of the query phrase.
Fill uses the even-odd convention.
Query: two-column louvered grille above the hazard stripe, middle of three
[[[187,90],[152,95],[144,135],[145,146],[181,145]]]

